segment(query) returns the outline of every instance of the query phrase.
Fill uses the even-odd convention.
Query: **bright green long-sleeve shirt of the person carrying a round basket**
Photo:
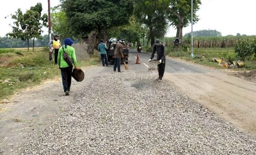
[[[65,46],[62,46],[59,49],[59,53],[58,53],[58,65],[59,65],[59,67],[60,68],[69,67],[68,63],[63,58],[63,53],[64,53],[63,48],[64,48],[65,52],[68,53],[68,56],[72,58],[73,64],[76,66],[77,61],[76,61],[75,49],[73,47],[67,45],[67,48],[65,48]]]

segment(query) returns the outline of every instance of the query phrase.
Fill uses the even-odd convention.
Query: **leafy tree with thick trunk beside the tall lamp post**
[[[196,12],[200,5],[201,0],[193,0],[193,23],[199,20]],[[170,24],[176,27],[176,37],[182,40],[182,29],[191,22],[191,0],[172,0],[168,6]]]

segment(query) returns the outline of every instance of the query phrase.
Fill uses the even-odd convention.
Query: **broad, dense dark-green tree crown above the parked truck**
[[[87,35],[93,30],[102,38],[105,31],[128,23],[132,0],[61,0],[69,28],[76,34]]]

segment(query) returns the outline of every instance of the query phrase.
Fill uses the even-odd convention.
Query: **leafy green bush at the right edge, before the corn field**
[[[256,56],[256,39],[246,38],[239,40],[234,46],[237,56],[241,60],[245,60],[245,57]]]

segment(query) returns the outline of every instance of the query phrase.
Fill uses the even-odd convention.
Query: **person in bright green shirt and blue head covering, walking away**
[[[59,68],[61,71],[63,89],[65,92],[65,95],[67,96],[67,95],[69,95],[70,86],[71,86],[73,65],[69,66],[68,63],[64,60],[64,58],[63,58],[64,51],[66,53],[68,53],[68,56],[70,58],[72,58],[75,69],[78,69],[78,67],[77,67],[75,49],[73,47],[71,47],[71,45],[74,43],[74,41],[72,41],[70,38],[65,38],[64,43],[65,43],[65,45],[59,49],[58,65],[59,65]]]

